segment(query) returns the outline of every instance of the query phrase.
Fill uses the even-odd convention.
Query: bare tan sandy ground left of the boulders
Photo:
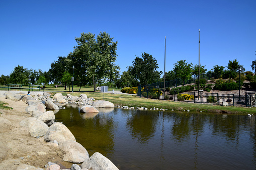
[[[35,167],[44,168],[48,161],[61,165],[61,168],[69,165],[63,162],[59,156],[58,147],[40,138],[31,137],[29,132],[21,128],[20,121],[31,117],[25,109],[28,106],[23,101],[12,101],[0,96],[0,101],[8,103],[7,106],[13,110],[0,109],[0,116],[8,119],[12,126],[11,130],[1,128],[0,132],[0,169],[16,169],[21,164],[29,164]],[[3,154],[6,153],[7,154]],[[69,168],[71,165],[69,166]]]

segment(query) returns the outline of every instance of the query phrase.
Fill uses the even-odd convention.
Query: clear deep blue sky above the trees
[[[20,65],[48,71],[67,56],[80,33],[107,32],[118,41],[117,61],[127,71],[148,53],[166,72],[174,63],[200,63],[207,71],[237,59],[246,71],[256,59],[256,1],[7,1],[0,2],[0,75]]]

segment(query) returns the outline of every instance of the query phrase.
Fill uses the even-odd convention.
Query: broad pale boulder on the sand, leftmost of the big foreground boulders
[[[22,120],[20,126],[27,128],[32,137],[44,136],[49,128],[43,121],[34,117]]]

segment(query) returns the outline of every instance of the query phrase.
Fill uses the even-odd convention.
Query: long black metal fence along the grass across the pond
[[[144,87],[143,87],[144,88]],[[142,88],[142,89],[143,89]],[[219,94],[219,93],[203,93],[203,92],[182,92],[177,93],[176,91],[161,91],[158,89],[143,89],[138,86],[138,96],[146,97],[151,99],[159,100],[173,100],[173,101],[185,101],[194,103],[214,103],[223,104],[223,102],[228,103],[228,105],[233,106],[251,106],[252,98],[255,95],[236,95],[236,94]]]

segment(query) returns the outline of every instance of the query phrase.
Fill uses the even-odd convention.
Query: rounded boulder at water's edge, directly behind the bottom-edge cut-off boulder
[[[79,163],[89,158],[86,148],[76,141],[66,140],[61,142],[59,148],[64,161]]]

